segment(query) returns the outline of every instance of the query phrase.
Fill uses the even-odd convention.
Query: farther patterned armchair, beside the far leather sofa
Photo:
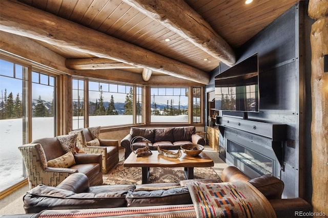
[[[106,174],[118,163],[118,140],[100,139],[100,126],[79,128],[69,134],[77,134],[76,147],[88,154],[103,155],[103,168]]]

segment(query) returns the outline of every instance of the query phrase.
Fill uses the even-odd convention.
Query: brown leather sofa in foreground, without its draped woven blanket
[[[223,182],[236,180],[249,181],[272,204],[277,217],[294,217],[295,211],[311,211],[311,205],[303,199],[281,199],[283,182],[266,175],[249,180],[236,167],[227,167],[222,172]],[[39,185],[24,196],[26,213],[37,213],[45,209],[87,209],[113,207],[143,207],[158,205],[192,204],[185,184],[161,183],[143,185],[103,185],[91,187],[85,175],[74,173],[57,187]],[[198,180],[200,182],[219,182],[215,180]]]

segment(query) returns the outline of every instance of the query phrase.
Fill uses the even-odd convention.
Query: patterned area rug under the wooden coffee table
[[[141,167],[124,167],[120,161],[108,174],[104,184],[141,184]],[[195,167],[194,179],[220,179],[212,167]],[[183,167],[151,167],[149,183],[175,183],[186,180]]]

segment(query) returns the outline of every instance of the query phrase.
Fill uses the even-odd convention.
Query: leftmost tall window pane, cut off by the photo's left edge
[[[27,76],[28,68],[0,59],[0,192],[25,179],[18,146],[27,142]]]

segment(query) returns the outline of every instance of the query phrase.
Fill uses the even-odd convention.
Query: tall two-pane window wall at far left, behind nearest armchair
[[[26,178],[18,146],[56,133],[56,77],[0,59],[0,192]]]

